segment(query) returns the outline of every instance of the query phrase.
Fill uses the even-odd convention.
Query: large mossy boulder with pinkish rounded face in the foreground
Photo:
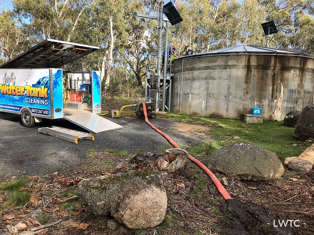
[[[157,168],[82,180],[78,189],[91,212],[111,213],[129,228],[154,227],[166,214],[167,195]]]

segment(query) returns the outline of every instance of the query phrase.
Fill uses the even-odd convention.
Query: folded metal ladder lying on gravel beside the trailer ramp
[[[91,133],[85,133],[81,131],[75,131],[75,130],[71,130],[67,128],[56,127],[56,126],[38,128],[38,133],[51,135],[60,139],[68,140],[75,144],[78,143],[79,139],[95,140],[93,134]]]

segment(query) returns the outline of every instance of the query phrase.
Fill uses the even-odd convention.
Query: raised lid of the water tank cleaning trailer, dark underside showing
[[[0,68],[60,68],[98,49],[95,46],[46,39],[0,65]]]

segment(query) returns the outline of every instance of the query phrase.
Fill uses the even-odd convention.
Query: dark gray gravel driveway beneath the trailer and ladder
[[[161,145],[169,142],[154,131],[143,119],[107,118],[121,126],[120,130],[95,134],[95,141],[78,140],[74,144],[59,138],[39,134],[40,127],[59,126],[85,131],[67,120],[46,120],[33,128],[21,124],[20,116],[0,112],[0,177],[11,175],[39,175],[53,173],[67,166],[74,166],[86,160],[88,149],[103,152],[105,149],[136,152],[160,152]],[[182,134],[173,128],[173,123],[162,119],[150,119],[156,127],[167,133],[177,144],[198,145],[204,137],[198,133]],[[87,131],[85,131],[87,132]]]

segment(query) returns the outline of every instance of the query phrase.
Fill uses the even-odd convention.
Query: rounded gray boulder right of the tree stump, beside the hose
[[[235,143],[216,150],[208,168],[241,180],[274,180],[284,174],[278,157],[252,144]]]

